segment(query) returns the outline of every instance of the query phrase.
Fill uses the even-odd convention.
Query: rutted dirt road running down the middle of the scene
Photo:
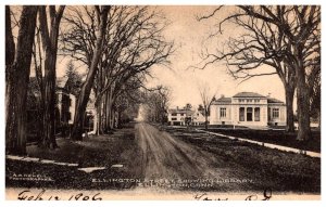
[[[237,166],[209,152],[177,140],[149,124],[139,122],[135,129],[141,148],[141,155],[138,157],[141,159],[139,167],[145,179],[213,179],[215,180],[213,189],[222,191],[243,187],[248,190],[248,185],[252,185],[250,178],[246,177],[248,173],[238,174],[235,170]],[[229,182],[229,179],[233,181]]]

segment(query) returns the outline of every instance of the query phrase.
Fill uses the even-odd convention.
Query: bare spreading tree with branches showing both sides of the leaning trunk
[[[87,15],[80,15],[80,10]],[[65,17],[73,26],[63,36],[63,51],[89,67],[95,48],[95,13],[84,7],[72,9],[72,14]],[[92,83],[98,133],[113,128],[115,101],[129,80],[142,87],[143,77],[153,65],[167,63],[173,47],[162,36],[165,24],[148,7],[112,7],[109,16],[104,48]]]

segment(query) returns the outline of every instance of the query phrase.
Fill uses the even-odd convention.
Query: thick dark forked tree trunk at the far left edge
[[[10,7],[5,7],[7,154],[26,154],[26,99],[37,11],[37,7],[23,7],[15,48],[11,27]]]

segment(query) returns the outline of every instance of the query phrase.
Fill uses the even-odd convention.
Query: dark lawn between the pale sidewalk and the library
[[[321,131],[312,131],[312,139],[306,141],[298,141],[296,140],[297,132],[289,133],[286,132],[285,130],[256,130],[256,129],[233,130],[233,129],[211,128],[208,129],[208,131],[321,153]]]

